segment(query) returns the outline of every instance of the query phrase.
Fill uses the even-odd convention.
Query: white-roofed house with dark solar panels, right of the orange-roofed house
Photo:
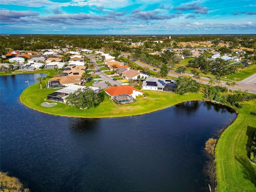
[[[142,83],[144,90],[173,91],[176,82],[169,79],[147,78]]]

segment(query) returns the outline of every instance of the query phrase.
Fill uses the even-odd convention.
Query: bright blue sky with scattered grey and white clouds
[[[255,0],[0,0],[1,34],[255,34]]]

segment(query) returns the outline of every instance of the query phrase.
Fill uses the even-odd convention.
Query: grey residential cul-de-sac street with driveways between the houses
[[[104,72],[102,72],[102,71],[100,70],[100,68],[96,66],[97,63],[96,63],[96,60],[94,59],[94,56],[91,55],[91,56],[89,56],[89,58],[90,58],[91,62],[94,62],[94,64],[95,64],[95,70],[96,70],[95,74],[97,74],[98,76],[100,76],[101,79],[103,80],[103,81],[100,81],[100,82],[98,82],[98,83],[94,83],[93,86],[95,86],[95,87],[101,87],[101,88],[106,88],[106,87],[107,87],[106,81],[110,82],[112,86],[115,85],[115,84],[116,84],[117,86],[122,85],[122,83],[120,83],[120,82],[118,82],[118,81],[112,80],[112,79],[110,78],[110,76],[104,74]],[[99,80],[101,80],[101,79],[99,79]],[[96,79],[96,80],[98,80],[98,79]]]

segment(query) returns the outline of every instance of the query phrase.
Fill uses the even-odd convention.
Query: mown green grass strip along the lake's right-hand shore
[[[218,192],[256,191],[256,166],[248,158],[256,118],[250,112],[256,112],[255,99],[238,109],[236,120],[218,140],[215,149]]]

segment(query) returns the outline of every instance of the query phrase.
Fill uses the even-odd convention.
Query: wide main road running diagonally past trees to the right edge
[[[122,53],[122,56],[126,57],[128,56],[129,54],[127,53]],[[136,64],[142,66],[142,67],[149,67],[150,70],[153,70],[153,69],[156,69],[157,71],[159,71],[159,68],[156,68],[156,67],[153,67],[153,66],[150,66],[150,65],[146,65],[138,60],[134,61]],[[189,74],[186,74],[186,73],[183,73],[182,74],[183,76],[189,76]],[[175,78],[178,78],[180,76],[180,74],[176,73],[176,72],[169,72],[168,73],[168,76],[172,76],[172,77],[175,77]],[[206,77],[201,77],[200,80],[196,79],[196,78],[193,78],[197,81],[199,81],[200,83],[202,84],[208,84],[209,83],[209,80],[210,78],[206,78]],[[204,81],[205,80],[205,81]],[[252,76],[240,81],[240,82],[236,82],[238,85],[234,87],[234,90],[242,90],[242,91],[248,91],[249,93],[254,93],[256,94],[256,74],[253,74]],[[226,85],[226,81],[220,81],[220,82],[216,82],[215,85],[222,85],[222,86],[227,86]],[[231,89],[233,89],[232,87],[230,87]]]

